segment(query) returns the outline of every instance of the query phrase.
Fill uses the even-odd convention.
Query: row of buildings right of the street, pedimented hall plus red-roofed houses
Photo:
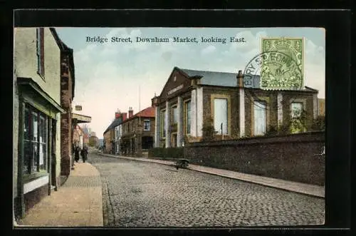
[[[215,140],[265,135],[295,116],[303,117],[303,125],[293,132],[304,132],[325,115],[325,99],[314,88],[266,91],[259,84],[260,77],[254,76],[252,86],[246,86],[241,71],[174,67],[150,108],[135,116],[130,110],[129,118],[115,113],[104,132],[105,152],[140,156],[150,147],[181,147],[211,134]]]

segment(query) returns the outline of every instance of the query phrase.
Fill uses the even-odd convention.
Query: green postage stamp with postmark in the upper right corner
[[[262,89],[303,88],[303,66],[303,38],[261,39]]]

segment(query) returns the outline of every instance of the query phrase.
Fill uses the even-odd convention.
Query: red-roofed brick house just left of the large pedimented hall
[[[116,140],[119,141],[120,155],[142,156],[154,146],[155,140],[155,108],[148,107],[133,115],[132,108],[129,117],[116,129]]]

